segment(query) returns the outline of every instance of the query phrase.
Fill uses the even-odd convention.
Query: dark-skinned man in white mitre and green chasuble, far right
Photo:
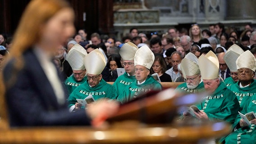
[[[248,99],[256,94],[256,81],[254,80],[256,70],[256,58],[249,50],[243,52],[236,60],[238,69],[238,82],[229,86],[236,94],[240,107],[244,108]]]

